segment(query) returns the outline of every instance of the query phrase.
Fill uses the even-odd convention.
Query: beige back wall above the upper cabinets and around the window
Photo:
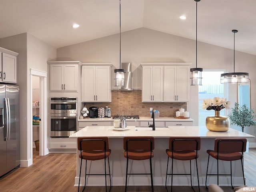
[[[214,37],[218,38],[218,36]],[[230,41],[233,41],[230,38]],[[197,66],[204,69],[224,69],[233,72],[234,50],[198,42]],[[122,62],[132,62],[133,87],[141,88],[141,62],[192,62],[196,67],[196,42],[150,30],[139,28],[122,33]],[[112,62],[112,75],[114,68],[119,68],[119,34],[82,42],[57,49],[57,60],[75,60],[81,62]],[[249,72],[251,79],[252,108],[256,109],[256,56],[243,52],[236,52],[236,72]],[[113,77],[113,76],[112,76]],[[112,78],[114,85],[114,78]],[[195,124],[198,123],[198,100],[196,88],[191,88],[191,98],[188,109]],[[236,87],[229,86],[230,101],[236,102]],[[192,102],[193,101],[193,102]],[[213,112],[214,114],[214,112]],[[256,127],[250,129],[250,134],[256,135]],[[256,140],[253,140],[255,142]]]

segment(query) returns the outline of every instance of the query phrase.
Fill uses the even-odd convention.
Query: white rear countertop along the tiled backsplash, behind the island
[[[84,118],[84,119],[79,119],[79,121],[114,121],[116,119],[113,118]],[[150,117],[140,117],[139,119],[126,119],[126,121],[152,121],[153,119]],[[174,117],[159,117],[155,118],[155,121],[194,121],[194,119],[176,119]]]

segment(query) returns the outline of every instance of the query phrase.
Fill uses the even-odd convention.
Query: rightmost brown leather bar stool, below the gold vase
[[[206,179],[205,186],[207,182],[208,175],[217,175],[217,184],[219,185],[219,175],[230,175],[230,181],[232,188],[232,161],[241,160],[242,172],[244,177],[244,167],[243,167],[243,156],[246,151],[246,138],[216,138],[214,142],[214,150],[207,150],[208,153],[208,163],[206,169]],[[217,160],[217,174],[208,174],[209,158],[212,156]],[[230,161],[230,174],[219,174],[219,160]],[[245,185],[245,178],[244,178]]]

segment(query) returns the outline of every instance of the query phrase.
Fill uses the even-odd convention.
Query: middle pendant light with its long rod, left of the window
[[[197,2],[200,0],[194,1],[196,2],[196,68],[190,69],[190,85],[202,85],[203,68],[197,68]]]

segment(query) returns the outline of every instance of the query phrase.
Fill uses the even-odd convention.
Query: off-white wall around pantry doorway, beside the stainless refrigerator
[[[21,166],[29,166],[30,156],[30,68],[47,72],[47,60],[56,58],[56,48],[38,38],[19,34],[0,39],[0,46],[18,52],[17,76],[20,86],[20,159]]]

